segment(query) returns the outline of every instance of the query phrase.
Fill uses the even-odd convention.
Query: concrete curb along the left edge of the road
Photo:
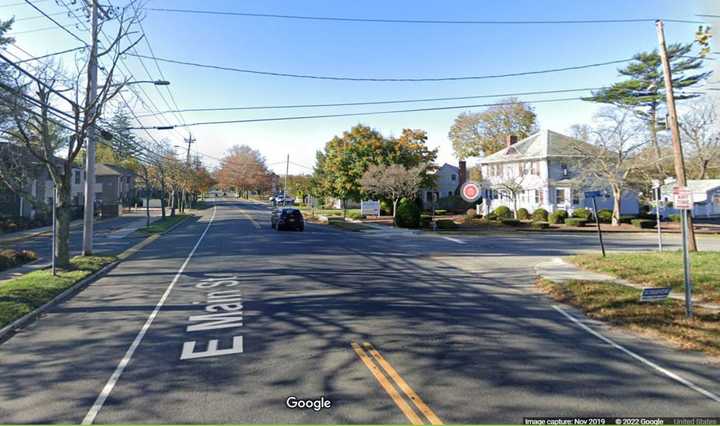
[[[79,293],[80,291],[84,290],[87,286],[92,284],[98,278],[101,278],[103,275],[110,272],[120,262],[127,260],[130,256],[136,254],[137,252],[142,250],[148,244],[159,239],[161,236],[163,236],[165,234],[169,234],[170,232],[175,230],[178,226],[185,223],[190,217],[193,217],[193,216],[187,216],[185,219],[181,220],[180,222],[178,222],[178,223],[174,224],[173,226],[171,226],[170,228],[168,228],[165,232],[163,232],[161,234],[150,235],[149,237],[145,238],[144,240],[140,241],[139,243],[135,244],[134,246],[126,249],[124,252],[120,253],[117,256],[117,260],[108,263],[107,265],[103,266],[99,270],[93,272],[92,274],[88,275],[87,277],[76,282],[69,288],[65,289],[62,293],[53,297],[49,302],[36,308],[32,312],[29,312],[26,315],[16,319],[15,321],[11,322],[8,325],[6,325],[5,327],[0,328],[0,343],[5,342],[7,339],[9,339],[13,335],[15,335],[15,333],[20,331],[23,327],[25,327],[28,324],[30,324],[31,322],[35,321],[40,315],[44,314],[51,308],[70,299],[71,297],[73,297],[77,293]]]

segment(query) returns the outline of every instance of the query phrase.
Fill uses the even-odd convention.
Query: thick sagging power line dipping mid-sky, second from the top
[[[126,53],[126,55],[151,59],[149,56],[138,55],[138,54],[134,54],[134,53]],[[176,60],[176,59],[167,59],[167,58],[157,58],[156,57],[155,59],[158,61],[161,61],[161,62],[167,62],[167,63],[171,63],[171,64],[187,65],[187,66],[193,66],[193,67],[198,67],[198,68],[216,69],[216,70],[221,70],[221,71],[232,71],[232,72],[239,72],[239,73],[245,73],[245,74],[269,75],[269,76],[273,76],[273,77],[292,77],[292,78],[304,78],[304,79],[314,79],[314,80],[375,81],[375,82],[485,80],[485,79],[492,79],[492,78],[519,77],[519,76],[524,76],[524,75],[547,74],[547,73],[554,73],[554,72],[561,72],[561,71],[572,71],[572,70],[580,70],[580,69],[586,69],[586,68],[595,68],[595,67],[601,67],[601,66],[606,66],[606,65],[621,64],[621,63],[630,62],[633,60],[633,58],[618,59],[618,60],[614,60],[614,61],[596,62],[596,63],[585,64],[585,65],[574,65],[574,66],[568,66],[568,67],[549,68],[549,69],[536,70],[536,71],[522,71],[522,72],[506,73],[506,74],[489,74],[489,75],[459,76],[459,77],[428,77],[428,78],[420,78],[420,77],[418,77],[418,78],[415,78],[415,77],[413,77],[413,78],[389,78],[389,77],[374,78],[374,77],[346,77],[346,76],[323,76],[323,75],[312,75],[312,74],[282,73],[282,72],[259,71],[259,70],[245,69],[245,68],[227,67],[227,66],[221,66],[221,65],[200,64],[197,62],[180,61],[180,60]]]

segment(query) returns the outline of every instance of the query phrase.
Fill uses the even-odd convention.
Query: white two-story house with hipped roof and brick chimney
[[[584,156],[578,147],[585,142],[551,130],[543,130],[521,141],[510,136],[506,147],[480,161],[485,186],[485,212],[499,206],[513,209],[508,187],[520,190],[517,207],[532,213],[537,208],[548,212],[558,209],[572,210],[592,207],[585,199],[587,191],[606,190],[607,197],[596,199],[598,209],[612,209],[613,198],[609,188],[590,187],[580,170]],[[637,195],[628,191],[620,203],[621,214],[636,214],[640,205]]]

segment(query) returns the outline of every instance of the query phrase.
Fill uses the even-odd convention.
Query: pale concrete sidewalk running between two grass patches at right
[[[537,265],[535,265],[535,272],[538,276],[542,278],[547,278],[548,280],[554,281],[556,283],[564,284],[568,281],[599,281],[620,284],[626,287],[632,287],[636,289],[645,288],[641,284],[636,284],[621,278],[616,278],[612,275],[586,271],[571,263],[565,262],[559,257],[556,257],[550,261],[538,263]],[[670,296],[668,297],[680,301],[685,300],[685,296],[681,294],[670,293]],[[720,305],[715,303],[700,303],[693,299],[693,305],[700,306],[705,309],[720,311]]]

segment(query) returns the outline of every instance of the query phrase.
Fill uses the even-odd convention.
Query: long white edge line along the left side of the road
[[[115,371],[113,372],[112,376],[108,379],[107,383],[105,384],[105,387],[103,387],[102,391],[98,395],[97,399],[95,399],[95,403],[90,407],[90,410],[85,415],[85,418],[83,419],[82,423],[83,425],[91,425],[95,421],[95,417],[97,417],[98,413],[100,413],[100,410],[102,409],[103,405],[105,404],[105,400],[107,400],[108,396],[110,396],[110,392],[112,392],[113,388],[115,387],[115,384],[120,379],[120,376],[122,375],[123,371],[125,371],[125,367],[130,363],[130,359],[135,354],[135,350],[137,350],[138,346],[140,346],[140,342],[142,342],[142,339],[145,337],[145,333],[147,333],[148,329],[150,328],[150,325],[155,320],[155,317],[157,316],[158,312],[160,312],[160,309],[162,308],[163,304],[165,303],[165,300],[170,295],[170,291],[172,291],[173,287],[175,287],[175,283],[178,282],[180,279],[180,276],[185,271],[185,268],[187,267],[188,263],[190,262],[190,259],[195,254],[195,251],[200,246],[200,243],[205,238],[205,234],[207,234],[208,230],[210,229],[210,225],[212,225],[213,220],[215,220],[215,213],[217,212],[217,206],[213,207],[213,214],[212,217],[210,217],[210,221],[208,222],[207,226],[205,227],[205,230],[203,231],[202,235],[200,235],[200,238],[198,238],[197,242],[195,243],[195,246],[192,250],[190,250],[190,254],[188,254],[187,258],[185,258],[185,262],[183,262],[182,266],[180,266],[180,269],[178,270],[177,274],[175,274],[175,278],[173,278],[170,285],[165,289],[165,293],[163,293],[162,297],[160,297],[160,300],[158,301],[157,305],[155,305],[155,309],[150,313],[150,316],[145,321],[145,324],[143,324],[142,328],[138,332],[137,336],[135,336],[135,340],[133,340],[132,344],[130,344],[130,347],[125,352],[125,356],[123,356],[122,360],[120,360],[120,363],[115,368]]]

